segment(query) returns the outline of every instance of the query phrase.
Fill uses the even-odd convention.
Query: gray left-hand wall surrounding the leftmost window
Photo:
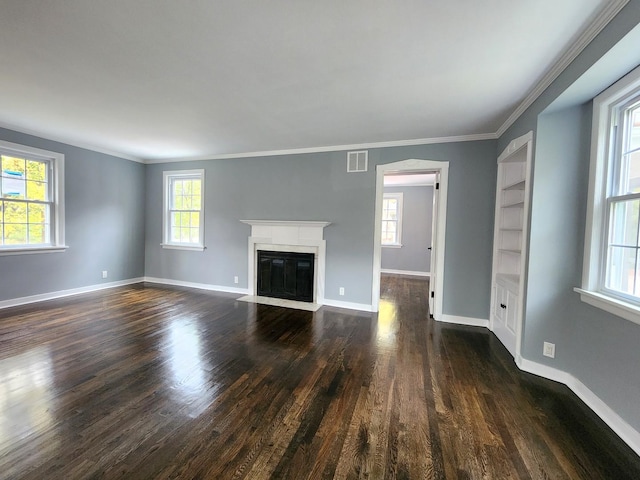
[[[69,246],[0,256],[0,300],[144,275],[144,165],[6,129],[0,140],[65,155]]]

